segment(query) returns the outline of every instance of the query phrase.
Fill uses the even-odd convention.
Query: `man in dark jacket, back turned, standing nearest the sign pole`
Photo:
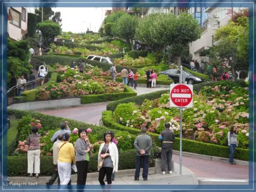
[[[165,175],[166,164],[168,167],[169,174],[172,174],[171,171],[171,158],[172,158],[172,148],[173,142],[175,141],[175,136],[172,130],[170,130],[170,123],[165,123],[165,130],[162,131],[158,137],[159,142],[161,142],[161,166],[162,174]]]

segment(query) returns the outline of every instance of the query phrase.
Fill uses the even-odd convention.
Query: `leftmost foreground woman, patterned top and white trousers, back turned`
[[[27,150],[27,173],[29,177],[33,177],[33,173],[36,174],[36,177],[39,177],[40,173],[40,138],[41,135],[38,134],[38,128],[32,128],[32,134],[28,136],[25,144],[28,145]]]

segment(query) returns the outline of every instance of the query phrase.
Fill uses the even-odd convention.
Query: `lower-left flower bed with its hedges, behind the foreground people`
[[[43,145],[41,147],[41,168],[40,173],[42,176],[51,175],[53,173],[53,165],[52,165],[52,151],[50,148],[52,147],[52,143],[50,142],[50,138],[53,133],[59,130],[59,124],[63,122],[64,118],[44,115],[38,112],[33,111],[24,111],[24,110],[8,110],[8,115],[14,115],[16,118],[20,118],[19,123],[19,133],[18,140],[23,141],[30,134],[30,130],[32,124],[38,125],[40,123],[39,133],[42,134],[42,139],[40,143]],[[34,119],[33,119],[34,118]],[[108,130],[112,130],[115,133],[115,138],[118,140],[118,147],[120,150],[119,156],[119,169],[129,169],[135,167],[135,156],[136,152],[134,150],[133,142],[135,136],[138,134],[131,134],[129,132],[123,132],[120,130],[110,129],[107,127],[94,126],[90,124],[86,124],[83,122],[75,121],[75,120],[67,120],[69,122],[69,127],[71,130],[76,130],[75,127],[86,128],[88,131],[88,136],[90,142],[94,145],[94,156],[90,159],[89,163],[89,171],[95,172],[97,171],[97,163],[98,163],[98,148],[99,144],[102,143],[103,134]],[[33,124],[34,125],[34,124]],[[56,129],[54,129],[56,128]],[[72,131],[71,134],[71,143],[75,145],[75,141],[78,138],[78,134],[76,131]],[[28,134],[28,135],[27,135]],[[19,144],[18,144],[19,143]],[[27,174],[27,156],[26,150],[27,146],[23,146],[23,142],[18,142],[18,148],[14,152],[12,156],[8,156],[8,176],[25,176]],[[154,165],[154,159],[157,157],[159,153],[159,149],[154,146],[152,148],[152,156],[150,158],[150,166]],[[18,158],[17,158],[18,157]]]

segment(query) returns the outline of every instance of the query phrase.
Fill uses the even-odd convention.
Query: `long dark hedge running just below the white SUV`
[[[98,68],[101,68],[103,71],[108,71],[110,70],[110,67],[112,66],[111,64],[107,64],[104,62],[99,62],[99,61],[94,61],[94,60],[87,60],[84,57],[65,57],[65,56],[32,56],[37,60],[41,60],[43,62],[48,63],[50,66],[53,66],[55,63],[59,62],[61,65],[70,65],[70,63],[72,61],[75,61],[76,63],[78,63],[81,60],[86,60],[88,62],[88,64],[91,64],[93,66],[97,66]],[[137,70],[134,68],[129,68],[129,67],[124,67],[124,66],[120,66],[117,65],[116,66],[116,70],[118,72],[121,72],[122,69],[132,69],[133,72],[136,72]]]

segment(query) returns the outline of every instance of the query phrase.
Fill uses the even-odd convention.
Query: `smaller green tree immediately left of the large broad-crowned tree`
[[[135,29],[138,26],[136,16],[129,14],[122,15],[112,26],[112,33],[125,39],[127,43],[134,39]],[[132,45],[132,49],[134,46]]]

